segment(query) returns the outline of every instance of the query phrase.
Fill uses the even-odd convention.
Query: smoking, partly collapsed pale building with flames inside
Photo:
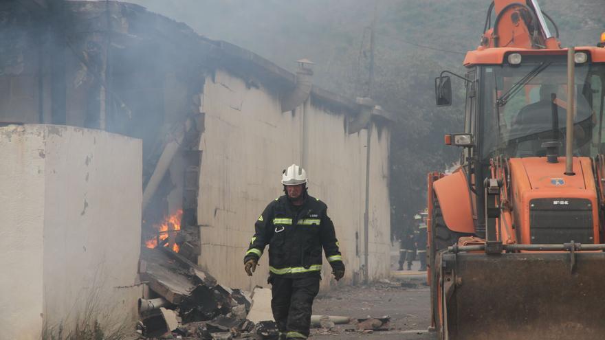
[[[17,306],[0,326],[34,339],[94,284],[134,319],[140,247],[264,285],[266,259],[252,279],[241,261],[292,162],[331,209],[345,281],[386,277],[393,117],[312,76],[309,60],[290,73],[138,5],[0,3],[0,264],[15,273],[0,299]]]

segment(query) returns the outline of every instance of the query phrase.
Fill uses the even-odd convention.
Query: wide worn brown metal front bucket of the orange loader
[[[605,253],[444,253],[443,339],[605,339]]]

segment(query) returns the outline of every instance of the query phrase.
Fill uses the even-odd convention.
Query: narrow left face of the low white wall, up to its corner
[[[0,330],[5,339],[39,339],[44,313],[43,131],[0,128]]]

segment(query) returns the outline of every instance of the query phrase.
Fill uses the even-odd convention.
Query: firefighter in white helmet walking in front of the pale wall
[[[285,195],[267,207],[254,225],[244,268],[252,276],[269,245],[271,308],[280,339],[307,339],[311,307],[319,292],[322,248],[336,280],[344,276],[334,225],[327,206],[307,194],[307,173],[292,164],[283,171]]]

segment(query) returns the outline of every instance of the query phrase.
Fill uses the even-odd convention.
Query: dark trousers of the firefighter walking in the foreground
[[[300,278],[271,275],[271,309],[285,339],[307,339],[311,326],[311,308],[319,292],[319,275]],[[281,338],[282,339],[282,338]]]

